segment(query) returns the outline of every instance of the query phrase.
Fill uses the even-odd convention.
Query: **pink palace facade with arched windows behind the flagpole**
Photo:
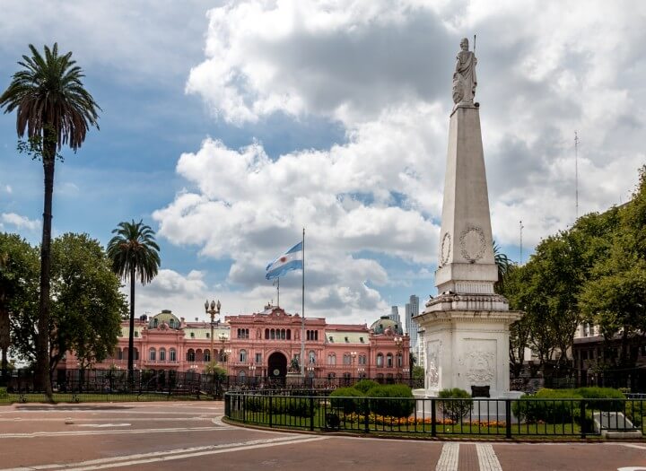
[[[387,317],[366,324],[327,324],[305,318],[305,375],[310,378],[406,377],[409,339]],[[301,356],[301,317],[267,305],[223,322],[188,322],[170,310],[135,319],[135,369],[203,372],[212,359],[237,377],[284,377]],[[97,369],[127,369],[128,321],[115,352]],[[74,364],[68,353],[66,367]]]

